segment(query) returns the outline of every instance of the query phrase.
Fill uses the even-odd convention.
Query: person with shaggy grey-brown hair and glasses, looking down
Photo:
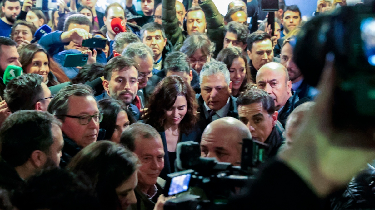
[[[192,68],[199,74],[203,65],[210,62],[215,51],[215,44],[206,34],[191,34],[183,43],[180,52],[185,53],[190,58]]]

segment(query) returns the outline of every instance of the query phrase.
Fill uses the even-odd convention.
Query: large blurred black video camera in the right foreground
[[[317,86],[329,53],[335,56],[333,125],[336,129],[373,134],[375,2],[340,7],[303,25],[297,35],[294,61],[311,86]],[[368,142],[350,143],[369,146]]]

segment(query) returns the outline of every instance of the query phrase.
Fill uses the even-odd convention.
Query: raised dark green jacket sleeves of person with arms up
[[[207,36],[216,45],[214,57],[222,50],[224,41],[224,18],[212,0],[199,4],[206,16]],[[162,0],[162,21],[166,37],[178,51],[186,39],[187,33],[182,31],[176,16],[175,0]]]

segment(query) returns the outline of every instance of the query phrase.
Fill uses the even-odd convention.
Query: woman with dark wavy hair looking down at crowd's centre
[[[165,173],[174,172],[176,146],[178,142],[194,140],[193,127],[197,122],[193,88],[182,77],[165,77],[150,96],[144,122],[150,124],[163,140]]]

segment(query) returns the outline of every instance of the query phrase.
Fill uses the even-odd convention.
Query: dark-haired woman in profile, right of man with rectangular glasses
[[[121,133],[130,124],[135,123],[133,115],[127,110],[122,101],[105,98],[98,102],[98,107],[103,113],[100,129],[105,129],[105,140],[120,143]]]

